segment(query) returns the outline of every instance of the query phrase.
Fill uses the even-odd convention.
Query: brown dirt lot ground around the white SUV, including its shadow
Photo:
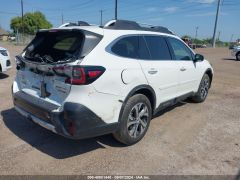
[[[12,62],[21,46],[10,50]],[[198,49],[215,76],[206,102],[159,113],[145,138],[124,147],[111,135],[69,140],[22,118],[14,109],[15,66],[0,75],[0,174],[240,174],[240,62],[226,48]]]

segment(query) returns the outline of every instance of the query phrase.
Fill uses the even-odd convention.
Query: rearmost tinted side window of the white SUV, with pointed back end
[[[124,37],[112,46],[112,52],[127,58],[138,58],[138,36]]]

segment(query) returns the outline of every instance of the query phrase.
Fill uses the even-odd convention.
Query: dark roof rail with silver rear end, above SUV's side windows
[[[143,26],[141,26],[143,25]],[[105,29],[115,30],[139,30],[139,31],[153,31],[167,34],[174,34],[168,28],[163,26],[154,26],[149,24],[137,23],[135,21],[128,20],[111,20],[103,27]]]

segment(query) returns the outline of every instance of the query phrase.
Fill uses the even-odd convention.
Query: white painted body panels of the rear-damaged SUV
[[[122,102],[135,87],[140,85],[152,87],[156,94],[156,107],[153,107],[155,109],[163,102],[189,92],[197,92],[204,73],[207,69],[212,69],[206,60],[196,63],[173,60],[145,61],[120,57],[111,52],[114,42],[122,36],[146,34],[179,39],[174,35],[149,31],[108,30],[99,27],[65,29],[70,28],[84,29],[103,36],[100,43],[76,64],[102,66],[106,71],[96,81],[84,86],[66,85],[59,77],[44,80],[47,82],[47,88],[54,92],[44,100],[59,105],[58,111],[62,111],[65,102],[79,103],[93,111],[105,123],[118,122]],[[181,68],[185,68],[185,71],[181,71]],[[151,75],[149,71],[156,73]],[[22,90],[41,98],[39,91],[31,87],[33,83],[39,83],[41,78],[27,70],[18,71],[13,84],[13,93]],[[57,87],[61,87],[65,93]]]

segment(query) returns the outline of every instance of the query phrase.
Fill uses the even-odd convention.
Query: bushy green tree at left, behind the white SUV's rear
[[[21,17],[14,17],[11,19],[11,29],[16,33],[35,34],[38,29],[49,29],[52,24],[47,21],[45,15],[39,11],[34,13],[26,13],[23,16],[23,25]]]

